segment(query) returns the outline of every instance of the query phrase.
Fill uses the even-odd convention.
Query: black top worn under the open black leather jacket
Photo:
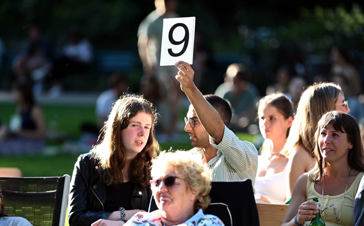
[[[106,186],[105,211],[116,211],[119,207],[132,210],[130,197],[134,191],[135,183],[126,182],[117,187]]]

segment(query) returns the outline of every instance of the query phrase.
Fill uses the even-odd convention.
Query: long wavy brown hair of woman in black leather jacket
[[[130,118],[139,112],[152,116],[152,126],[145,147],[130,162],[128,178],[131,182],[144,187],[150,185],[151,160],[155,157],[156,151],[159,151],[159,144],[154,135],[157,113],[153,105],[143,96],[124,95],[112,107],[102,129],[104,134],[102,141],[91,149],[94,157],[100,161],[100,177],[107,186],[123,183],[122,170],[126,164],[126,153],[122,143],[122,130],[127,128]]]

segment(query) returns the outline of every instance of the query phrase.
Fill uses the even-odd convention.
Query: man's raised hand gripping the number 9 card
[[[174,65],[178,68],[178,75],[176,75],[176,79],[179,83],[181,83],[181,90],[187,94],[193,89],[197,89],[193,83],[193,75],[195,72],[192,70],[189,63],[178,61]]]

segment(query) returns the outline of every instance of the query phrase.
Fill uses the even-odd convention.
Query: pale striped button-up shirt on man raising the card
[[[218,149],[217,155],[207,163],[212,170],[212,181],[250,179],[254,190],[258,168],[258,151],[254,144],[239,140],[226,126],[222,141],[216,144],[215,140],[210,137],[210,144]],[[202,155],[203,148],[193,148],[191,152]]]

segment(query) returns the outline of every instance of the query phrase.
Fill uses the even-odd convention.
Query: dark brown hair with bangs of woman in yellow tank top
[[[320,136],[320,131],[323,128],[327,128],[329,125],[332,125],[336,131],[346,133],[348,142],[353,144],[353,148],[350,149],[348,153],[348,165],[353,169],[364,172],[364,152],[363,144],[361,143],[359,125],[354,117],[334,110],[325,113],[317,124],[313,151],[315,164],[312,170],[310,170],[310,180],[313,182],[321,180],[323,171],[326,168],[326,161],[324,161],[320,152],[318,137]]]

